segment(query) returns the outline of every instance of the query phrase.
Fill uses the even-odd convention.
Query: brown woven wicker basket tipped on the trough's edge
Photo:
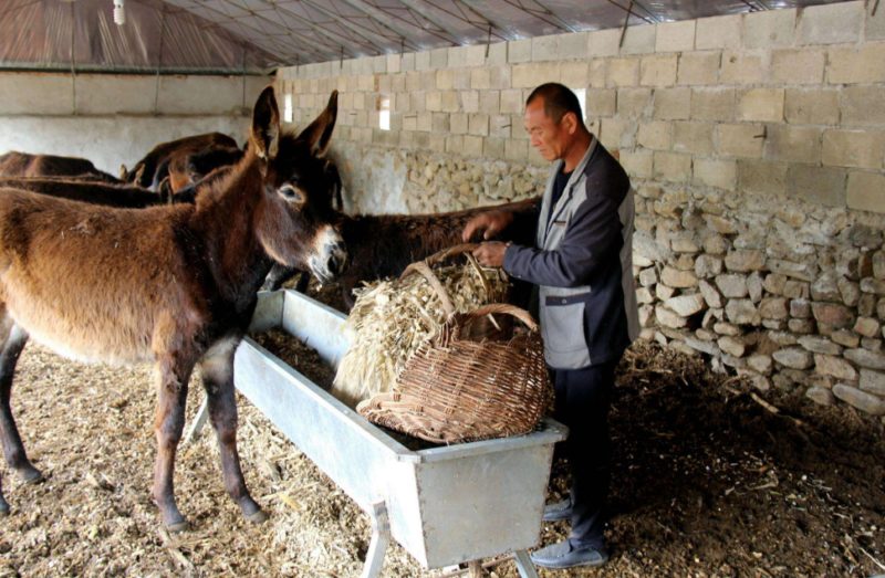
[[[506,340],[462,337],[471,324],[493,314],[514,317],[529,330]],[[538,325],[519,307],[491,304],[452,315],[409,358],[394,390],[357,410],[392,430],[457,443],[529,433],[551,397]]]

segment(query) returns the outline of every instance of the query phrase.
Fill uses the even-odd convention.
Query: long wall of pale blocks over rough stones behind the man
[[[361,159],[387,155],[397,178],[383,197],[413,212],[540,192],[524,99],[548,81],[585,90],[589,125],[637,191],[644,336],[760,389],[883,416],[885,11],[871,9],[632,27],[623,45],[602,30],[345,60],[278,83],[299,124],[341,92],[353,208],[378,193]]]

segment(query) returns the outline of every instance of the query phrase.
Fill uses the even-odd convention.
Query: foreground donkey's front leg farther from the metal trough
[[[154,464],[154,501],[163,524],[171,532],[187,529],[187,521],[175,503],[175,453],[185,428],[187,381],[192,366],[181,367],[171,360],[158,364],[157,411],[154,433],[157,438],[157,461]]]

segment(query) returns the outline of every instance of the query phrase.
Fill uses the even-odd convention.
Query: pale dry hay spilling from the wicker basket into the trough
[[[509,287],[500,269],[434,267],[458,313],[504,301]],[[351,347],[341,359],[331,392],[351,407],[389,391],[408,357],[436,335],[447,314],[437,292],[420,274],[367,284],[356,293],[347,318]]]

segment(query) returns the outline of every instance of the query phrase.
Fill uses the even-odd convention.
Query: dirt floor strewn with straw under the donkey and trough
[[[322,369],[310,353],[293,355],[309,372]],[[202,398],[198,378],[191,386],[189,417]],[[46,480],[25,485],[0,466],[12,506],[0,517],[0,577],[358,576],[367,517],[248,401],[239,407],[247,483],[270,519],[239,515],[206,429],[177,460],[178,503],[192,528],[168,535],[149,495],[150,368],[85,366],[29,344],[13,411]],[[885,574],[881,421],[753,392],[700,358],[638,344],[618,371],[612,430],[612,560],[541,576]],[[551,498],[562,495],[566,465],[554,464]],[[541,542],[566,533],[564,522],[545,524]],[[488,571],[518,576],[510,560]],[[382,576],[440,574],[394,544]]]

